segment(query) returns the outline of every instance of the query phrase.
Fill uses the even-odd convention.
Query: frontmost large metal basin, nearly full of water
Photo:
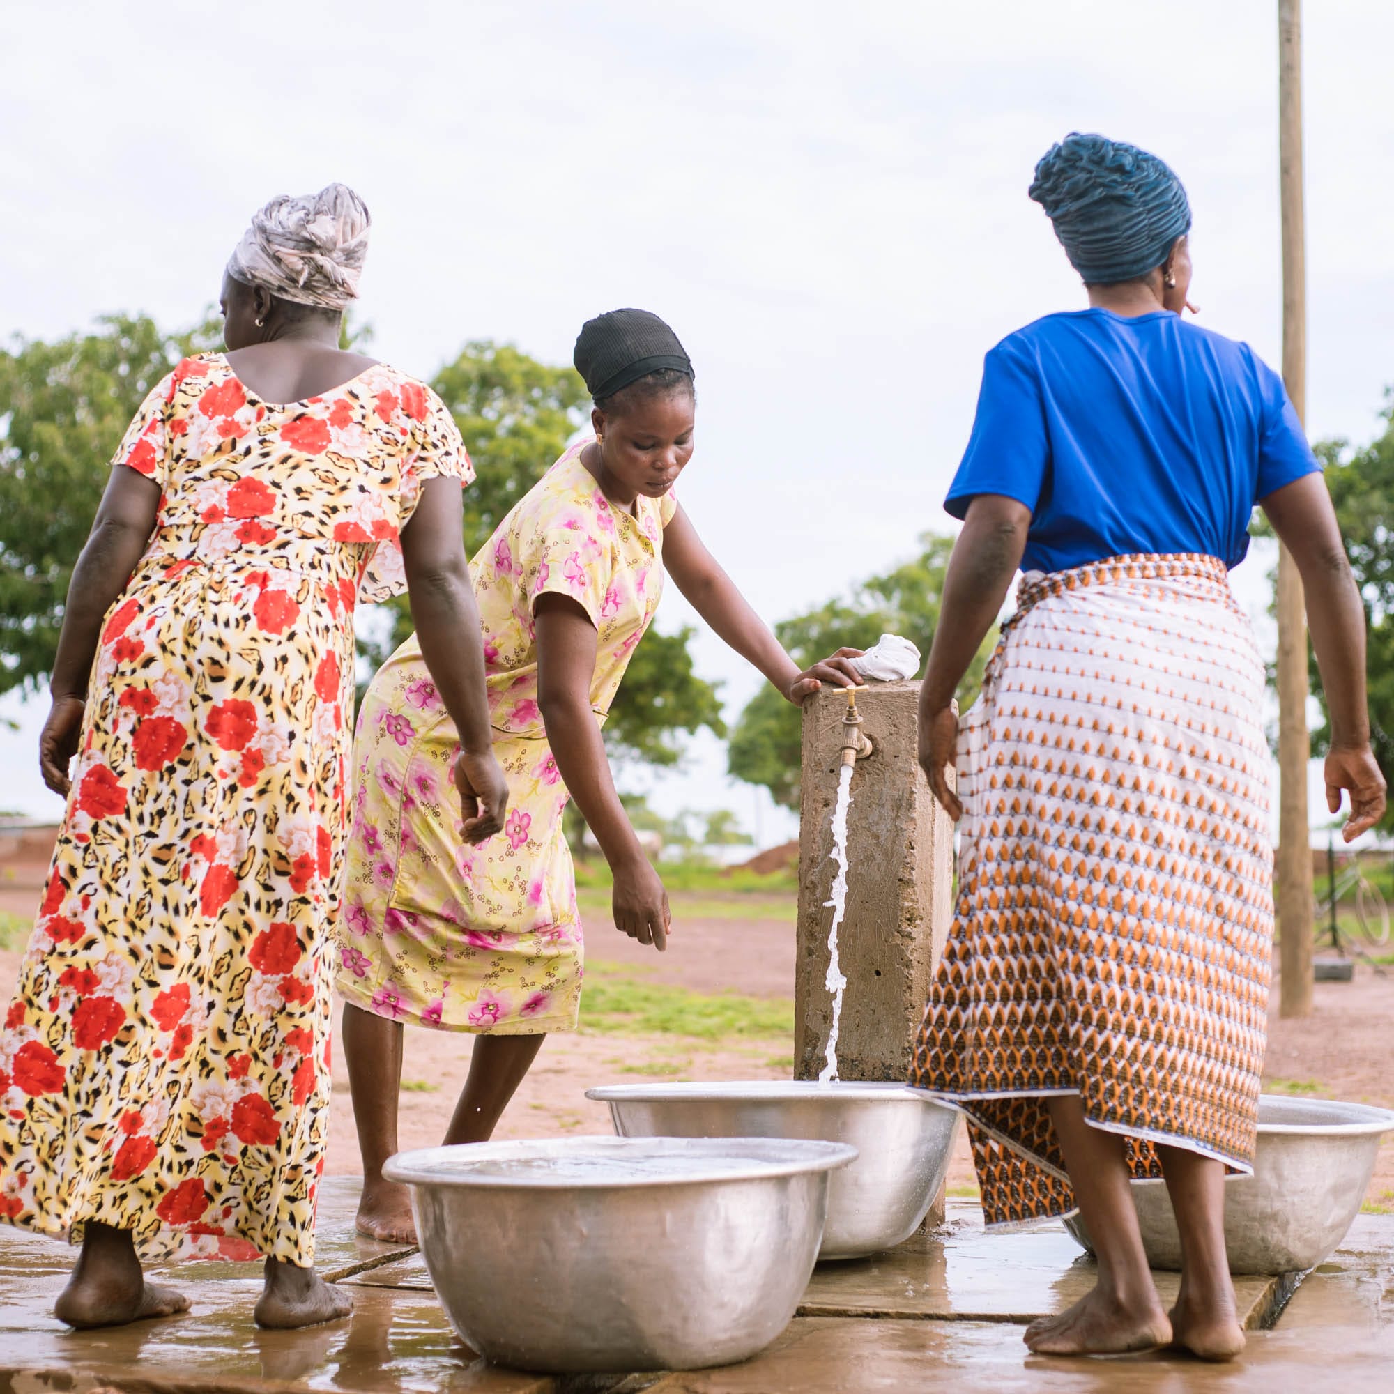
[[[562,1138],[399,1153],[460,1338],[552,1373],[743,1361],[813,1273],[828,1172],[856,1149],[769,1138]]]

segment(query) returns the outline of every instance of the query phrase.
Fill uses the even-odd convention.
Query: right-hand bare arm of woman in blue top
[[[1384,776],[1370,750],[1365,700],[1365,606],[1320,474],[1294,480],[1260,506],[1292,553],[1306,592],[1308,627],[1331,721],[1326,802],[1338,813],[1341,792],[1349,793],[1344,831],[1349,842],[1384,817]]]

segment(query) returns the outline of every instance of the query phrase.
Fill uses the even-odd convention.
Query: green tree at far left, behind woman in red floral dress
[[[0,348],[0,691],[47,677],[72,565],[135,408],[188,353],[216,347],[209,318],[164,335],[109,315],[86,335]]]

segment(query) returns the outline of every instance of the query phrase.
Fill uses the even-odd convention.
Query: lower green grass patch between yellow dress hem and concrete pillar
[[[793,1001],[693,993],[650,983],[630,969],[591,960],[581,995],[581,1030],[622,1036],[691,1036],[725,1040],[793,1034]]]

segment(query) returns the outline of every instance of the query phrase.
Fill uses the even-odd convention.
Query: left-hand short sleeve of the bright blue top
[[[1034,362],[1009,340],[983,361],[967,450],[944,507],[956,519],[980,493],[1001,493],[1033,513],[1046,488],[1050,438]]]

